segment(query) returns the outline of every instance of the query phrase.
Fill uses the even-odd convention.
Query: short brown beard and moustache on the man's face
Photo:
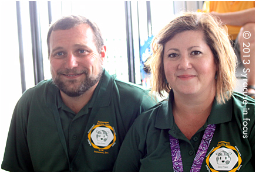
[[[71,73],[72,72],[72,73]],[[59,77],[61,74],[85,74],[85,78],[83,81],[78,81],[78,79],[69,79],[68,81],[62,81]],[[57,73],[57,76],[55,79],[53,79],[53,84],[55,84],[60,91],[64,92],[66,95],[70,97],[77,97],[82,94],[84,94],[86,91],[88,91],[92,86],[97,84],[99,82],[100,78],[103,74],[103,68],[102,66],[99,67],[99,73],[97,75],[88,75],[87,70],[83,70],[82,72],[74,71],[74,70],[65,70]],[[78,84],[79,83],[79,84]],[[69,84],[76,84],[72,86],[72,88],[69,87]]]

